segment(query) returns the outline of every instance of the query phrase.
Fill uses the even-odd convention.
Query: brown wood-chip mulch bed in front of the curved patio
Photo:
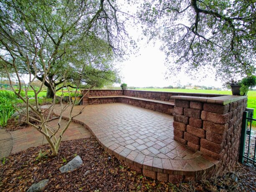
[[[239,164],[235,173],[243,181],[235,182],[228,177],[216,177],[200,182],[171,184],[155,182],[130,170],[129,167],[122,166],[115,157],[105,152],[94,138],[63,141],[57,157],[41,155],[38,159],[40,150],[43,154],[49,152],[49,147],[31,147],[10,155],[5,164],[0,164],[0,191],[26,191],[31,184],[47,178],[50,181],[46,191],[51,192],[255,190],[255,169]],[[69,162],[76,155],[81,157],[84,164],[73,172],[61,174],[58,169],[66,164],[63,159]],[[90,173],[85,175],[88,170]],[[220,189],[221,184],[223,189]]]

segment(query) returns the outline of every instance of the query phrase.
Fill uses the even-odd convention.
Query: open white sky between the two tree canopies
[[[136,13],[136,6],[129,7],[129,5],[126,4],[126,6],[120,5],[120,8],[124,12],[129,10],[129,13],[132,15]],[[152,42],[147,44],[145,39],[140,40],[140,38],[138,38],[142,36],[142,30],[139,27],[138,30],[136,30],[136,26],[128,26],[126,29],[134,40],[139,39],[137,40],[137,45],[140,49],[136,55],[130,55],[127,61],[116,63],[123,77],[122,83],[127,83],[128,86],[135,87],[164,87],[169,85],[175,86],[176,82],[180,80],[182,85],[192,83],[193,85],[222,87],[221,81],[215,81],[213,71],[205,71],[204,73],[209,74],[208,78],[204,78],[203,80],[201,78],[192,80],[191,77],[184,73],[181,73],[180,76],[166,79],[165,72],[167,71],[167,67],[165,66],[165,53],[160,51],[160,40],[155,42],[155,46]],[[200,74],[198,76],[200,76]]]

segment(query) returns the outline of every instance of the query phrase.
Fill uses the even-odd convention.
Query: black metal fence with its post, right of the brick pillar
[[[256,129],[252,128],[253,109],[243,112],[239,162],[256,164]]]

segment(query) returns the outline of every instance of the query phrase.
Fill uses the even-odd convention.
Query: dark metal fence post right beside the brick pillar
[[[248,118],[248,111],[243,111],[240,149],[239,149],[239,158],[238,158],[238,161],[240,163],[243,163],[244,148],[245,148],[245,141],[246,141],[246,130],[247,130],[247,118]]]

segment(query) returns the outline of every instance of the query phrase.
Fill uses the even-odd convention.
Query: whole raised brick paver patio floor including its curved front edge
[[[81,107],[75,106],[74,114]],[[128,104],[100,104],[86,106],[74,121],[87,126],[105,150],[154,179],[166,181],[168,174],[195,177],[218,163],[174,141],[173,117],[167,114]]]

